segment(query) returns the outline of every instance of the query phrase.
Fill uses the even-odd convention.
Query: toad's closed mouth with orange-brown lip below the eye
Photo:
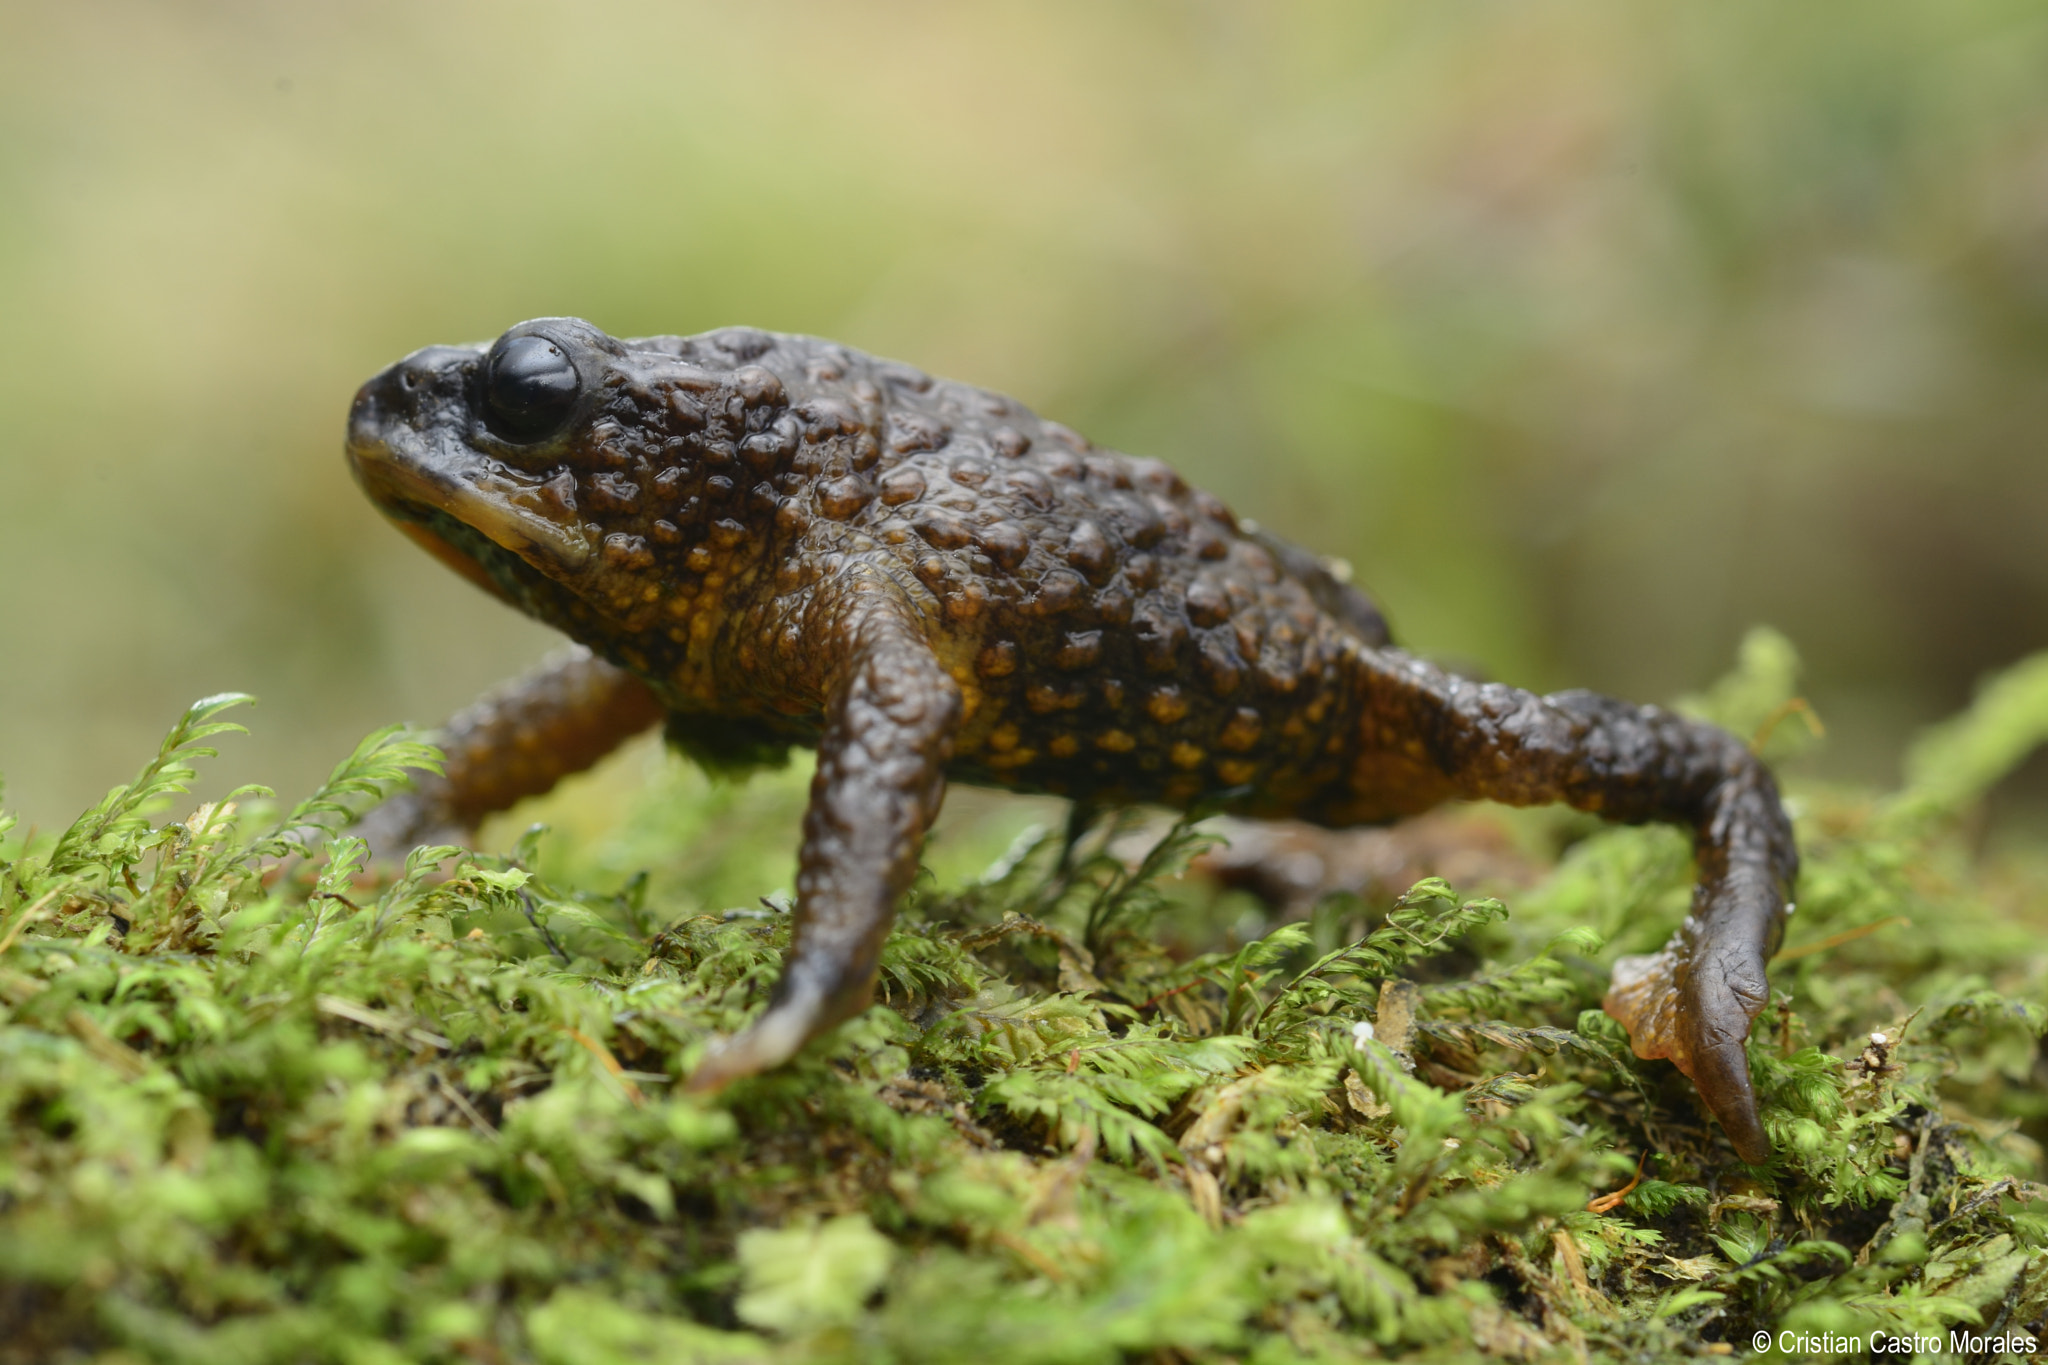
[[[547,516],[553,493],[549,485],[516,479],[475,463],[473,456],[459,469],[444,469],[432,454],[414,446],[412,440],[393,444],[377,436],[350,434],[348,440],[348,463],[362,491],[385,516],[408,528],[408,534],[412,526],[428,520],[414,510],[438,512],[481,532],[549,577],[575,575],[590,563],[592,544],[584,528],[563,526]],[[438,551],[436,557],[446,559]]]

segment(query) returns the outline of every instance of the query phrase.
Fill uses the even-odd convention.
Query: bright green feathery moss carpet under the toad
[[[1794,679],[1759,636],[1698,706],[1755,731]],[[610,833],[373,878],[338,831],[422,759],[395,733],[293,810],[252,790],[166,819],[236,700],[61,835],[0,825],[0,1361],[2044,1334],[2048,870],[1987,864],[1968,821],[2048,731],[2042,661],[1898,792],[1792,784],[1761,1169],[1597,1011],[1612,954],[1683,915],[1669,831],[1575,825],[1505,905],[1430,880],[1249,941],[1241,898],[1178,876],[1200,825],[1141,857],[1130,817],[1030,835],[920,884],[885,1003],[698,1101],[676,1078],[778,968],[786,909],[756,898],[801,784],[662,780]],[[705,898],[727,886],[754,909]]]

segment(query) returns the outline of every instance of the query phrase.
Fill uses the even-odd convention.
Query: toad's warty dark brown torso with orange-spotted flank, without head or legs
[[[741,718],[750,739],[815,741],[788,694],[829,671],[805,651],[836,647],[807,628],[813,589],[862,563],[918,606],[961,690],[950,776],[1174,806],[1247,788],[1245,808],[1346,823],[1346,663],[1386,628],[1313,555],[1159,460],[834,342],[625,346],[702,370],[618,385],[592,444],[610,471],[575,489],[608,514],[627,596],[666,610],[563,624],[653,681],[686,743],[731,743]],[[711,379],[741,368],[754,385],[731,395]]]

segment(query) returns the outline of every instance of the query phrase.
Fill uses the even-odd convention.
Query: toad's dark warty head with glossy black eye
[[[592,614],[635,626],[682,579],[735,569],[745,536],[719,503],[739,456],[797,444],[782,383],[748,362],[770,346],[737,329],[621,342],[575,317],[430,346],[356,393],[348,463],[471,581],[575,634]]]

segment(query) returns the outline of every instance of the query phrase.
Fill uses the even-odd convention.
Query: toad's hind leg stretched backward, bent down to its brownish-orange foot
[[[1769,1001],[1763,968],[1798,876],[1769,772],[1726,731],[1657,706],[1470,684],[1395,651],[1374,655],[1364,675],[1360,800],[1563,800],[1610,821],[1694,829],[1692,915],[1663,952],[1614,966],[1606,1009],[1636,1056],[1671,1058],[1692,1076],[1743,1160],[1767,1160],[1743,1044]]]

